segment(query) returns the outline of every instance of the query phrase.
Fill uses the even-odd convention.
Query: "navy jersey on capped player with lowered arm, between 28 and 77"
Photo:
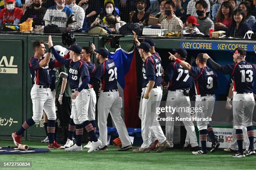
[[[144,62],[143,69],[145,69],[145,82],[148,84],[149,77],[154,76],[155,77],[155,85],[156,86],[161,86],[161,80],[162,80],[162,74],[161,74],[161,60],[158,57],[155,57],[154,55],[151,55],[150,57],[147,57],[146,61]]]

